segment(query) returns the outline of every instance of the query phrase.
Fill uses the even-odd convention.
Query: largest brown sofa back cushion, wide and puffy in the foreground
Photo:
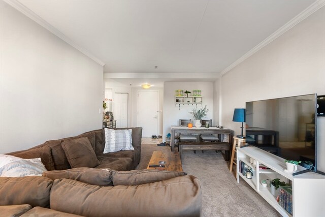
[[[141,185],[99,187],[56,179],[51,208],[88,217],[200,216],[200,181],[191,175]]]

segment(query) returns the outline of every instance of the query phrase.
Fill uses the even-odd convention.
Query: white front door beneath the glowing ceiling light
[[[142,127],[142,136],[151,137],[158,134],[158,90],[138,91],[137,126]]]

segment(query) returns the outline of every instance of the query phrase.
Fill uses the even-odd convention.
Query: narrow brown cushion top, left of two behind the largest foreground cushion
[[[68,178],[81,181],[88,184],[100,186],[112,186],[113,182],[110,176],[110,169],[95,169],[95,168],[73,168],[69,170],[53,170],[45,171],[43,176],[52,180],[59,178]]]

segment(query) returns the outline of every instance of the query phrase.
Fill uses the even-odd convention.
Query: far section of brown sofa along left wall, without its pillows
[[[142,128],[137,127],[125,129],[132,129],[132,146],[134,147],[134,150],[123,150],[104,154],[105,132],[104,129],[100,129],[83,133],[75,137],[47,141],[28,150],[21,150],[8,154],[25,159],[41,158],[42,163],[45,165],[47,170],[71,169],[66,153],[61,144],[63,142],[72,141],[76,138],[87,137],[96,157],[100,161],[100,165],[95,168],[110,168],[119,171],[132,170],[135,169],[140,162]]]

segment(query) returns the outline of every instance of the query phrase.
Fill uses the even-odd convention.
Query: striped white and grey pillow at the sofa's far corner
[[[112,130],[105,128],[104,153],[120,150],[134,150],[132,146],[132,129]]]

